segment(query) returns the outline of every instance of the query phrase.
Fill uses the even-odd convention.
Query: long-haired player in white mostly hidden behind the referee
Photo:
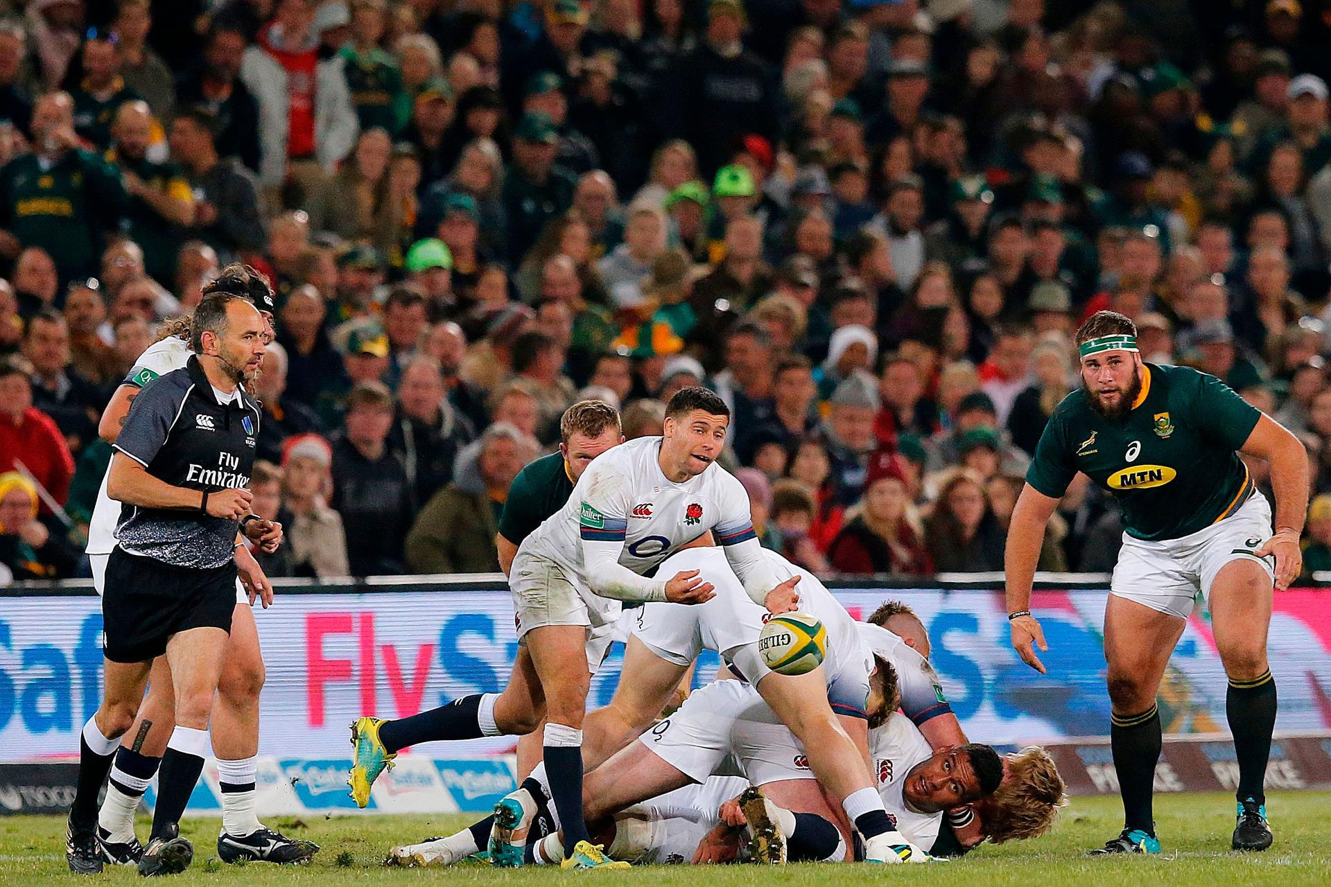
[[[204,287],[205,297],[213,293],[236,295],[254,305],[264,318],[265,342],[272,340],[273,291],[257,271],[242,265],[229,265],[216,281]],[[190,354],[189,319],[180,318],[169,323],[162,338],[134,362],[102,412],[97,428],[98,436],[114,443],[138,391],[158,376],[184,367]],[[98,594],[104,588],[106,560],[116,545],[114,529],[120,517],[120,503],[106,495],[109,475],[108,467],[88,527],[87,551],[92,563],[93,586]],[[256,600],[260,600],[262,606],[269,606],[273,602],[273,586],[245,545],[236,548],[236,565],[238,570],[236,610],[232,614],[226,660],[212,715],[213,754],[217,757],[222,793],[222,828],[217,838],[217,855],[228,863],[303,862],[318,850],[318,846],[306,840],[291,840],[266,828],[254,811],[258,699],[264,688],[264,658],[250,608]],[[106,797],[98,814],[97,836],[106,863],[134,864],[142,855],[142,846],[134,835],[134,813],[166,750],[166,741],[174,726],[174,706],[170,669],[166,658],[158,657],[149,676],[148,697],[116,753]]]

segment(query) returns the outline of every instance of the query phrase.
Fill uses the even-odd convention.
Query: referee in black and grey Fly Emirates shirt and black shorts
[[[206,297],[190,324],[184,368],[134,398],[116,439],[106,489],[122,503],[106,563],[104,699],[80,745],[79,783],[65,856],[101,871],[97,793],[118,737],[129,729],[154,657],[165,653],[176,689],[176,729],[158,773],[144,875],[184,871],[193,847],[178,821],[204,769],[208,718],[236,602],[237,523],[265,551],[281,525],[249,513],[261,410],[244,391],[264,358],[264,319],[246,299]]]

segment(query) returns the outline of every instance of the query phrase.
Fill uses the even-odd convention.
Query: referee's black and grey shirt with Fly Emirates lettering
[[[249,487],[260,406],[237,388],[218,391],[198,358],[144,386],[129,406],[116,449],[173,487]],[[236,521],[200,511],[121,505],[120,548],[174,567],[210,569],[232,560]]]

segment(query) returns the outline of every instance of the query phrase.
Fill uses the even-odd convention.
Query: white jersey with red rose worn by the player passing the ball
[[[720,465],[676,484],[662,473],[660,438],[639,438],[598,456],[568,501],[523,540],[520,555],[570,568],[587,584],[582,540],[622,541],[619,564],[646,574],[707,531],[733,545],[755,537],[748,493]]]

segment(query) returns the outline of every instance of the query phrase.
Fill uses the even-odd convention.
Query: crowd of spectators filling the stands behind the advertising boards
[[[732,410],[764,545],[997,570],[1099,309],[1299,434],[1331,495],[1315,8],[0,0],[3,569],[85,574],[101,410],[234,261],[278,297],[273,576],[498,569],[566,407],[660,434],[688,384]],[[1042,569],[1113,564],[1085,481]]]

